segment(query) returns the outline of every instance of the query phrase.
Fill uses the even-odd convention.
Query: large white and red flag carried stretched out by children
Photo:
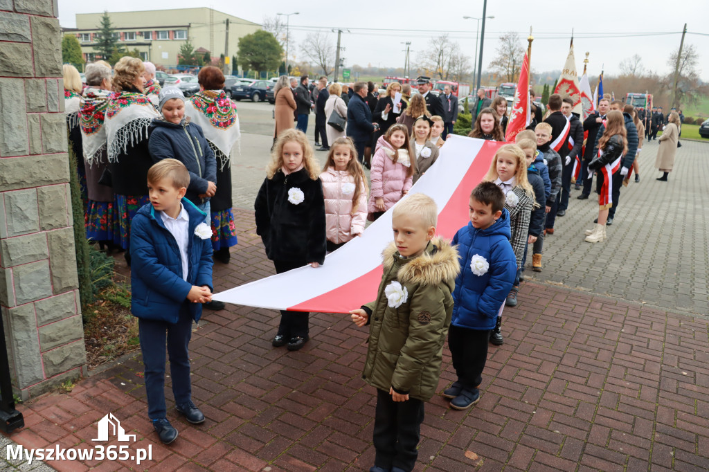
[[[409,195],[425,193],[438,206],[437,235],[452,238],[469,221],[470,192],[488,172],[503,142],[449,135],[440,155],[411,187]],[[406,196],[404,197],[406,198]],[[274,310],[348,313],[376,298],[381,281],[381,252],[393,240],[391,212],[325,257],[325,264],[304,266],[230,290],[214,300]]]

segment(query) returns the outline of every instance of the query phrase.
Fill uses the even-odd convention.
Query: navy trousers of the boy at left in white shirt
[[[175,403],[183,405],[191,400],[189,379],[189,351],[187,344],[192,335],[192,315],[189,302],[180,306],[179,319],[174,325],[167,321],[138,319],[140,351],[145,366],[145,391],[147,415],[150,420],[164,418],[165,409],[165,344],[170,361],[172,395]]]

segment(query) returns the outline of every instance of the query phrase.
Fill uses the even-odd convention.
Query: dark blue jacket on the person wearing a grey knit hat
[[[162,159],[177,159],[189,171],[189,186],[186,198],[195,205],[209,200],[198,195],[206,193],[208,182],[216,184],[217,161],[209,142],[202,133],[202,128],[184,118],[176,125],[155,118],[150,123],[148,149],[153,162]]]

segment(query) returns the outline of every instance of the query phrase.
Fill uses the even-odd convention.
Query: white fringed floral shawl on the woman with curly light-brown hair
[[[147,139],[147,128],[160,116],[150,99],[136,89],[114,92],[106,109],[108,162],[118,162],[118,156]]]

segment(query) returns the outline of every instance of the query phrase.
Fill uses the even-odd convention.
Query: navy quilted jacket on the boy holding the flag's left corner
[[[176,323],[180,305],[186,302],[192,286],[206,285],[212,289],[211,238],[203,240],[194,234],[197,225],[204,222],[206,213],[187,198],[182,198],[182,205],[189,214],[191,235],[187,247],[189,270],[186,281],[182,279],[182,259],[177,241],[151,203],[138,210],[130,225],[130,311],[135,317]],[[199,321],[202,304],[187,303],[192,318]]]

